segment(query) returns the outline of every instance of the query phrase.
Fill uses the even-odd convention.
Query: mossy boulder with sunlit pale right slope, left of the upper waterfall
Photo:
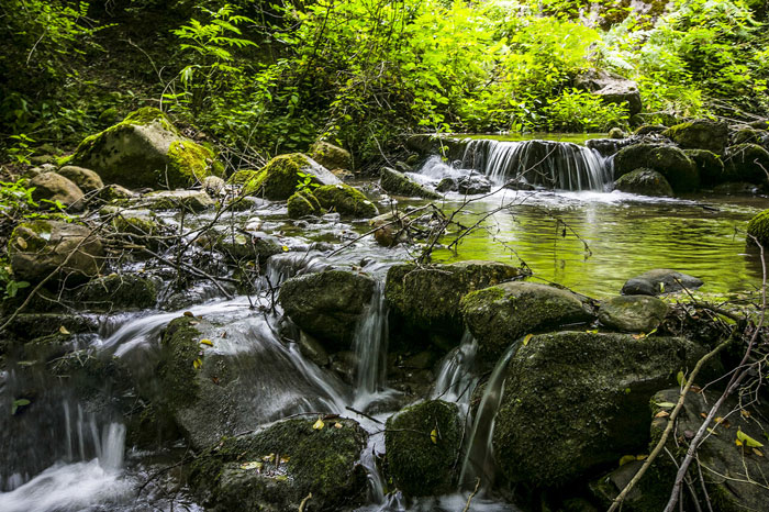
[[[302,153],[276,156],[265,167],[250,175],[236,175],[233,182],[243,182],[243,193],[285,201],[300,183],[338,185],[342,181],[328,169]]]

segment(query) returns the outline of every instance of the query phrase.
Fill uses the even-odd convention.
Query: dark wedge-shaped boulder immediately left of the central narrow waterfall
[[[287,280],[278,300],[293,323],[336,352],[352,346],[356,324],[375,287],[370,277],[328,270]]]

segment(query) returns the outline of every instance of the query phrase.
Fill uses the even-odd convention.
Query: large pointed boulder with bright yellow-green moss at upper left
[[[189,187],[221,174],[213,152],[181,136],[163,112],[149,107],[83,140],[69,163],[93,169],[105,183],[129,188]]]

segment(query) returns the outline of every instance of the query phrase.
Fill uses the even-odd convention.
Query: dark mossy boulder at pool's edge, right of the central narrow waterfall
[[[456,344],[465,331],[459,301],[467,293],[521,278],[519,267],[497,261],[459,261],[452,265],[419,267],[395,265],[387,272],[384,297],[390,304],[391,329],[416,340],[448,336]],[[448,349],[452,346],[444,346]]]

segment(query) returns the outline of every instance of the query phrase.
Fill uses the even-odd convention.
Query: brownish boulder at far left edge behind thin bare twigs
[[[58,221],[19,224],[8,252],[15,279],[33,282],[54,271],[76,281],[92,278],[104,258],[101,241],[90,229]]]

